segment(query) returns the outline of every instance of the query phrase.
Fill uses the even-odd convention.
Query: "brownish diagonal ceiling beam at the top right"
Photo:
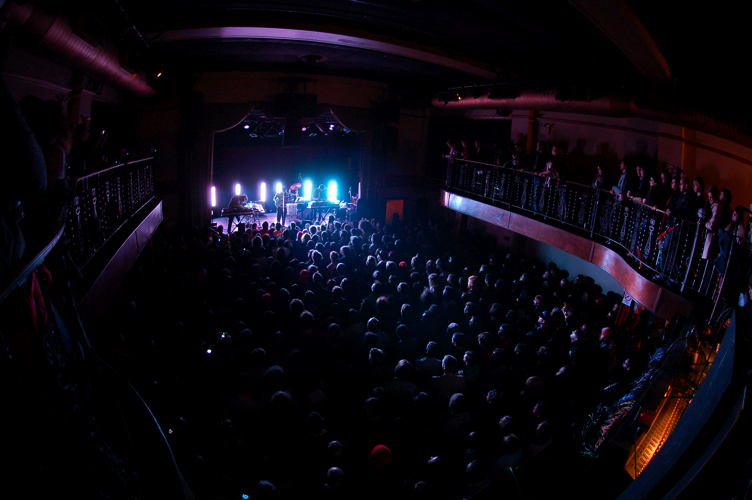
[[[569,0],[597,26],[642,73],[658,81],[671,79],[671,69],[648,30],[624,0]],[[677,4],[681,9],[681,4]]]

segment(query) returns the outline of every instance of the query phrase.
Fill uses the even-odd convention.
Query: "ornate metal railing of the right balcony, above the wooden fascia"
[[[719,277],[713,259],[718,252],[702,258],[710,232],[704,224],[575,182],[473,161],[448,161],[451,191],[603,239],[623,248],[640,270],[660,275],[682,292],[715,296]]]

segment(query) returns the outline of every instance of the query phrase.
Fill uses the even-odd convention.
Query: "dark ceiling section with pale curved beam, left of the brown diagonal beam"
[[[121,4],[161,60],[196,71],[284,70],[403,86],[602,81],[639,73],[567,2],[280,1]],[[564,21],[566,29],[561,29]],[[227,34],[208,28],[266,28]],[[596,40],[596,43],[593,43]],[[322,55],[305,63],[305,55]],[[576,57],[575,57],[576,56]],[[605,70],[605,71],[604,71]]]

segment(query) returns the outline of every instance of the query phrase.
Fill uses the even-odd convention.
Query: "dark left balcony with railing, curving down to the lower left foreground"
[[[148,406],[90,342],[162,220],[152,161],[79,179],[67,220],[0,274],[0,422],[18,436],[3,479],[24,496],[193,498]]]

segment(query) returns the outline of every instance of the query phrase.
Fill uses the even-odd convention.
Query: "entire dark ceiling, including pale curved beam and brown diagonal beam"
[[[60,4],[57,4],[60,5]],[[167,72],[343,75],[426,91],[486,83],[651,88],[742,114],[750,45],[737,2],[100,0],[93,11]],[[135,29],[131,28],[131,25]]]

